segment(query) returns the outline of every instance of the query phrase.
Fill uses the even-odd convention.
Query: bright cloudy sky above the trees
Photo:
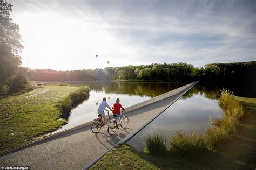
[[[22,35],[24,67],[76,70],[164,62],[200,67],[256,60],[254,0],[8,2]]]

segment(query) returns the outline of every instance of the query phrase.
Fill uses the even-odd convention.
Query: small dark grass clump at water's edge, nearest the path
[[[146,139],[147,150],[152,155],[164,156],[167,153],[166,141],[163,137],[158,136],[158,134],[147,137]]]

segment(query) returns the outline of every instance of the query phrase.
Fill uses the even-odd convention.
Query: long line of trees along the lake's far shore
[[[194,67],[187,63],[152,63],[151,65],[106,67],[55,71],[28,69],[33,81],[256,81],[256,61],[211,63]]]

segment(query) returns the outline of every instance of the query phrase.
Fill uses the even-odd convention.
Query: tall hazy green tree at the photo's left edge
[[[23,46],[19,26],[12,21],[11,12],[11,3],[0,0],[0,96],[12,93],[15,87],[12,83],[28,83],[24,75],[18,73]]]

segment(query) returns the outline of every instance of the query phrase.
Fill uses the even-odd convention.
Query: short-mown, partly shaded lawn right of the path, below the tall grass
[[[256,169],[256,99],[235,98],[245,109],[237,135],[218,146],[218,151],[200,155],[169,153],[154,157],[122,144],[107,153],[91,169]]]

